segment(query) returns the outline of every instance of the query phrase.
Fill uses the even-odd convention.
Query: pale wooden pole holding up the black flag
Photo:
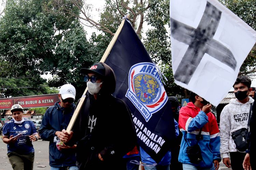
[[[127,18],[129,18],[129,15],[127,16]],[[114,46],[114,44],[115,44],[115,42],[116,42],[116,40],[117,40],[118,35],[120,34],[120,32],[121,32],[121,30],[122,30],[122,28],[123,28],[123,26],[124,26],[125,20],[126,20],[126,18],[123,19],[123,21],[121,22],[120,26],[118,27],[118,29],[117,29],[117,31],[116,31],[114,37],[113,37],[112,40],[110,41],[110,43],[109,43],[109,45],[108,45],[108,48],[106,49],[105,53],[103,54],[103,56],[102,56],[100,62],[104,63],[105,60],[106,60],[106,58],[108,57],[108,55],[109,55],[109,53],[110,53],[112,47]],[[83,96],[81,97],[81,99],[80,99],[78,105],[76,106],[76,109],[75,109],[75,111],[74,111],[74,114],[73,114],[73,116],[72,116],[72,118],[71,118],[71,120],[70,120],[70,122],[69,122],[69,125],[68,125],[67,130],[66,130],[67,132],[70,132],[71,129],[73,128],[73,125],[74,125],[74,123],[75,123],[75,120],[76,120],[76,118],[77,118],[77,116],[78,116],[78,114],[79,114],[79,112],[80,112],[80,110],[81,110],[81,108],[82,108],[82,105],[83,105],[83,103],[84,103],[84,100],[85,100],[85,98],[86,98],[86,95],[85,95],[85,94],[86,94],[87,90],[88,90],[88,88],[86,87],[86,89],[85,89],[85,91],[84,91],[84,94],[83,94]]]

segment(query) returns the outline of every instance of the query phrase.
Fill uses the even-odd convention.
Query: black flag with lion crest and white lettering
[[[140,147],[159,162],[175,139],[171,105],[155,64],[127,20],[104,63],[115,72],[113,95],[130,108]]]

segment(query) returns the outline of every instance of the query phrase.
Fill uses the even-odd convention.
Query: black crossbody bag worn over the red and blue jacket
[[[202,132],[202,128],[200,128],[199,134],[196,136],[197,140],[201,140],[203,138],[203,136],[201,135],[201,132]],[[185,139],[185,142],[187,143],[186,139]],[[188,145],[188,143],[187,143],[187,145]],[[186,152],[187,152],[188,158],[190,160],[190,163],[199,164],[203,160],[202,154],[201,154],[201,149],[200,149],[200,146],[198,145],[198,143],[193,146],[188,145]]]

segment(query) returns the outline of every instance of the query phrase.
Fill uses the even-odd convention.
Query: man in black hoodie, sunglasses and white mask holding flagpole
[[[105,63],[80,71],[88,92],[72,131],[62,130],[60,139],[67,145],[78,141],[76,166],[81,170],[126,169],[122,157],[136,146],[137,136],[129,108],[112,96],[115,74]]]

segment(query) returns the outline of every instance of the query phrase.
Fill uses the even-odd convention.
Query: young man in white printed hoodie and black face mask
[[[232,170],[243,170],[243,160],[246,153],[237,151],[231,135],[241,128],[247,128],[251,103],[254,102],[248,96],[249,92],[252,91],[251,83],[251,79],[246,76],[237,78],[233,85],[236,99],[231,99],[230,103],[223,108],[220,116],[220,151],[223,155],[223,163],[228,168],[232,167]],[[230,154],[230,160],[228,154]]]

